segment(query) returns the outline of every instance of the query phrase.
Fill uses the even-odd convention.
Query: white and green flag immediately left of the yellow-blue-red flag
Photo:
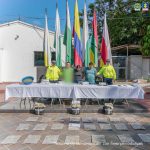
[[[72,63],[72,33],[68,0],[66,0],[66,27],[63,43],[66,45],[66,62]]]

